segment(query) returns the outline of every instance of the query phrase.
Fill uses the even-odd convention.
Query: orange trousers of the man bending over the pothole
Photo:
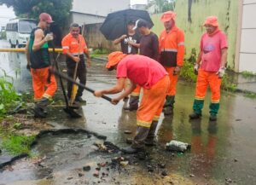
[[[137,126],[150,128],[152,121],[158,121],[169,89],[168,76],[160,79],[151,89],[143,89],[143,99],[137,109]]]

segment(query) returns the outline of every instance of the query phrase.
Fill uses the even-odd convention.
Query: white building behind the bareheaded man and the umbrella
[[[129,8],[130,0],[73,0],[71,21],[79,25],[102,23],[109,13]]]

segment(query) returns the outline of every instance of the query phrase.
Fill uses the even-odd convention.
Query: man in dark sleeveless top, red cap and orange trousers
[[[31,70],[32,87],[35,101],[35,117],[45,118],[45,108],[57,90],[55,76],[49,72],[50,59],[48,42],[53,40],[53,34],[45,32],[53,20],[49,14],[39,15],[38,27],[32,30],[26,44],[27,68]],[[45,90],[46,87],[46,90]]]

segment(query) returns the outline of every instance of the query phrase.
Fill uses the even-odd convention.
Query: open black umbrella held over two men
[[[114,40],[127,33],[126,25],[131,20],[145,20],[148,27],[154,26],[147,11],[140,9],[125,9],[108,14],[100,30],[108,40]]]

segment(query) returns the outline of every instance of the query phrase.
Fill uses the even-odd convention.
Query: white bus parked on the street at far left
[[[37,20],[13,19],[6,25],[6,39],[11,48],[25,46],[32,29],[37,27]]]

